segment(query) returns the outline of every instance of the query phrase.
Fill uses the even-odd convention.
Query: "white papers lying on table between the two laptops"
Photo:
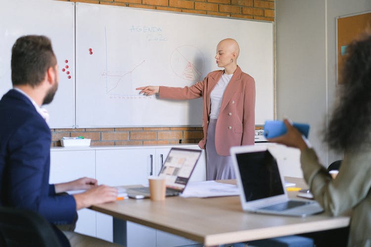
[[[233,184],[215,181],[190,182],[185,187],[181,197],[225,197],[238,196],[238,187]]]

